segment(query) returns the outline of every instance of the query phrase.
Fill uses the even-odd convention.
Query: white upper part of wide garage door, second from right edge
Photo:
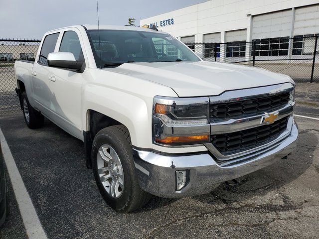
[[[292,10],[253,16],[252,39],[290,36]]]

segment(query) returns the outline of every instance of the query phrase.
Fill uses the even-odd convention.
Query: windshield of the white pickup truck
[[[187,46],[169,34],[131,30],[88,30],[99,68],[126,62],[199,61]],[[100,52],[101,47],[101,52]]]

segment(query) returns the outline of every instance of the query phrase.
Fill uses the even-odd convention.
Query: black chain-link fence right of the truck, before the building
[[[318,34],[251,42],[185,44],[204,61],[261,67],[289,75],[296,82],[319,82]]]

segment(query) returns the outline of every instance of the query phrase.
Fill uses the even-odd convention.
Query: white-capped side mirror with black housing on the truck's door
[[[66,69],[81,70],[83,61],[75,60],[71,52],[52,52],[48,55],[48,65]]]

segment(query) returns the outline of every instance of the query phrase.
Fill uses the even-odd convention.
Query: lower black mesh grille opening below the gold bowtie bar
[[[249,150],[276,139],[287,129],[288,117],[272,124],[210,136],[211,143],[223,155]]]

